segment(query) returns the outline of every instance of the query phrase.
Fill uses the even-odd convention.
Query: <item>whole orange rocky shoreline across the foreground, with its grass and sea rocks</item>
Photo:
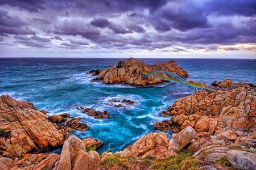
[[[216,92],[177,99],[148,133],[123,151],[95,151],[97,139],[79,139],[86,130],[80,117],[68,113],[47,118],[32,103],[0,97],[0,167],[2,169],[256,169],[256,91],[251,83],[214,82]],[[232,88],[230,88],[232,87]],[[226,90],[224,90],[224,88]],[[230,89],[229,89],[230,88]],[[228,90],[227,90],[228,89]],[[134,104],[133,101],[123,103]],[[106,112],[79,108],[95,118]],[[249,143],[249,145],[248,145]],[[251,143],[251,144],[250,144]],[[63,146],[60,155],[43,153]]]

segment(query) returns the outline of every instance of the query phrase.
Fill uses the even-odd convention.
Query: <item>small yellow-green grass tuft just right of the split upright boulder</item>
[[[114,165],[120,165],[121,167],[127,167],[128,159],[125,157],[117,156],[117,155],[109,155],[106,157],[104,167],[109,168],[113,167]]]

